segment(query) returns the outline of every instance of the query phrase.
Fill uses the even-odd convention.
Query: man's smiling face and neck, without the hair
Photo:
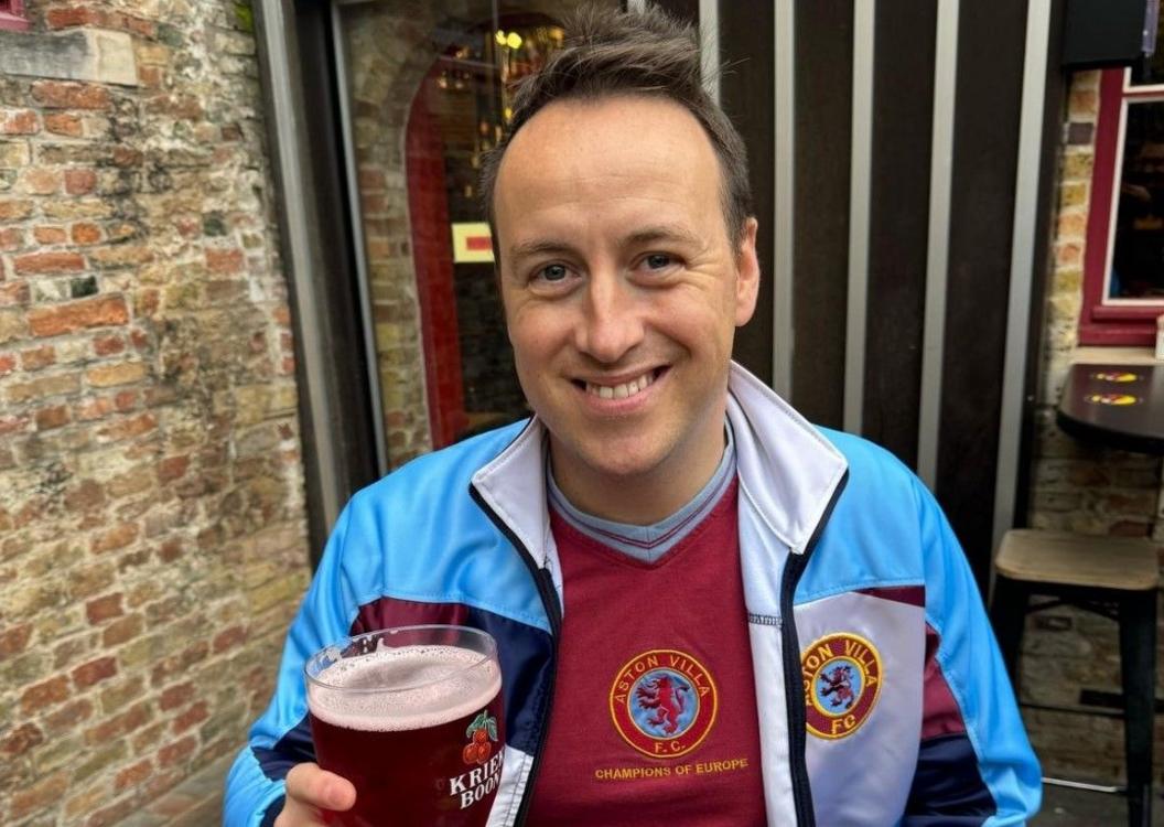
[[[698,121],[648,97],[552,104],[513,137],[495,198],[509,337],[559,485],[603,516],[630,516],[602,502],[627,481],[682,506],[722,455],[759,282],[755,222],[729,239]]]

